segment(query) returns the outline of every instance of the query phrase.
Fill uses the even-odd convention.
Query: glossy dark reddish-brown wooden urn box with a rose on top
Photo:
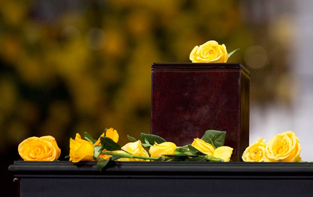
[[[226,131],[239,161],[249,146],[250,73],[239,63],[153,63],[151,134],[178,146]]]

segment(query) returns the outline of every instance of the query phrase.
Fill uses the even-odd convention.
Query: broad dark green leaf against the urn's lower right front
[[[213,143],[213,147],[218,148],[224,145],[225,136],[226,131],[207,130],[201,139],[209,144]]]

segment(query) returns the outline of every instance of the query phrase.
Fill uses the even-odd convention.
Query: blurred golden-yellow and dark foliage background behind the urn
[[[0,3],[2,171],[31,136],[54,136],[66,160],[75,133],[113,127],[120,145],[150,133],[151,64],[190,62],[208,40],[240,48],[228,62],[251,72],[251,105],[291,104],[288,12],[273,19],[260,3],[234,0]]]

